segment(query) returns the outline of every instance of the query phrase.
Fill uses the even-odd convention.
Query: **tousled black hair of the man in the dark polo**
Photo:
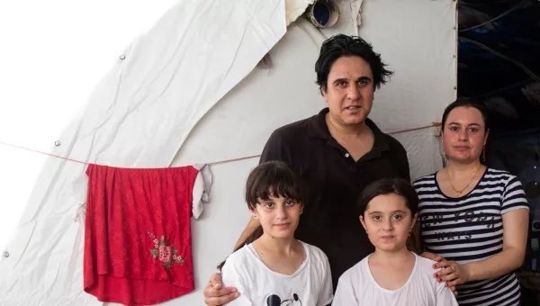
[[[321,93],[327,90],[330,68],[342,57],[364,58],[374,74],[374,89],[381,88],[393,75],[392,71],[384,68],[386,64],[383,63],[381,54],[375,53],[371,44],[357,36],[338,34],[322,43],[319,58],[315,63],[317,84]]]

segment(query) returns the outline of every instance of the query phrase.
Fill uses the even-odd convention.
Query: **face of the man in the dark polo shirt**
[[[342,126],[365,121],[374,103],[374,74],[364,58],[338,58],[330,67],[326,90],[331,120]]]

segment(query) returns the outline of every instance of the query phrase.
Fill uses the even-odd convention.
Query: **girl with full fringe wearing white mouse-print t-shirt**
[[[219,266],[223,285],[240,294],[227,305],[329,305],[328,258],[294,238],[304,207],[299,176],[283,162],[261,164],[247,177],[246,202],[261,227]]]

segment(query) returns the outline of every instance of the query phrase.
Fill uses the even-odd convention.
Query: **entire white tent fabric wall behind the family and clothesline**
[[[354,31],[350,1],[340,2],[335,27],[320,31],[301,18],[285,35],[283,1],[224,3],[176,4],[126,50],[52,153],[139,167],[247,157],[260,153],[275,128],[324,107],[313,66],[323,40]],[[362,12],[360,34],[396,70],[376,92],[370,117],[386,131],[439,121],[455,98],[455,2],[368,1]],[[255,67],[269,49],[272,67]],[[441,166],[434,130],[396,136],[413,177]],[[256,164],[252,158],[211,166],[211,204],[192,222],[196,292],[165,304],[203,304],[208,276],[247,222],[243,184]],[[0,305],[101,304],[82,291],[83,229],[72,220],[85,201],[84,170],[56,157],[43,163],[6,247],[9,257],[0,261]]]

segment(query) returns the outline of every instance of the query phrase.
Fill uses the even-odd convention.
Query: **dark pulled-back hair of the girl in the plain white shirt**
[[[402,178],[385,178],[367,185],[362,194],[360,194],[357,203],[360,215],[364,216],[367,204],[375,197],[391,193],[400,195],[405,199],[405,204],[410,209],[412,216],[419,211],[419,196],[408,181]]]

